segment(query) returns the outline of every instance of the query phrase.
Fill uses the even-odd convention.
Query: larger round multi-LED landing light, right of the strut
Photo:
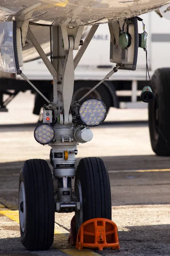
[[[107,109],[100,99],[87,99],[79,107],[79,117],[85,125],[100,125],[106,118]]]

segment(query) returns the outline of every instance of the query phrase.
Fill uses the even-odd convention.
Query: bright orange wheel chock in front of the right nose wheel
[[[76,249],[83,247],[120,249],[116,224],[106,218],[94,218],[85,221],[77,234]]]

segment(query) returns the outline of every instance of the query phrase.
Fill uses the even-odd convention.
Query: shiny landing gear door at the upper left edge
[[[16,21],[0,22],[0,58],[3,72],[20,74],[22,43]]]

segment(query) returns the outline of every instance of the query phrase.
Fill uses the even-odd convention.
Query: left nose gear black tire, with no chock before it
[[[23,183],[22,183],[23,182]],[[25,190],[25,225],[20,220],[21,243],[27,250],[48,250],[54,240],[54,188],[51,170],[42,159],[31,159],[24,163],[19,181]],[[20,217],[21,218],[21,217]]]

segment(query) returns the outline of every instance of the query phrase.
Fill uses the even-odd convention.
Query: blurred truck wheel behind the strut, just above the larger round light
[[[81,97],[88,93],[88,91],[91,90],[96,84],[97,81],[75,81],[72,102],[81,99]],[[100,84],[99,87],[91,92],[85,99],[89,98],[101,99],[106,105],[107,112],[109,111],[109,108],[113,106],[111,93],[104,84]]]

